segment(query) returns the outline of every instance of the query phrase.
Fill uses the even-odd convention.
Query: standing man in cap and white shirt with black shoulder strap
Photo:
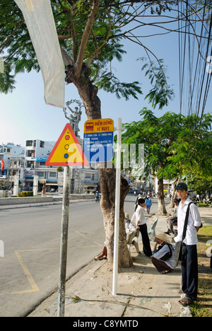
[[[188,187],[184,182],[179,182],[176,187],[177,196],[181,199],[177,210],[177,237],[175,242],[182,240],[185,216],[190,199],[187,198]],[[190,205],[189,219],[187,232],[184,238],[184,244],[187,248],[187,260],[181,264],[182,272],[182,291],[186,296],[179,301],[182,306],[190,305],[193,300],[196,300],[198,286],[198,261],[197,261],[197,231],[201,226],[199,210],[195,204]]]

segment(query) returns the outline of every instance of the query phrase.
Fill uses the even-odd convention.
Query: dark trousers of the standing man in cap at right
[[[182,291],[188,298],[196,300],[198,288],[198,261],[196,245],[186,245],[187,260],[181,264]]]

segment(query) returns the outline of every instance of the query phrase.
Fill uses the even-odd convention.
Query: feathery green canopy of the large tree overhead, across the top
[[[165,66],[146,47],[146,36],[142,36],[141,31],[147,25],[158,28],[158,34],[181,30],[177,29],[177,25],[176,29],[171,28],[177,20],[184,23],[187,19],[184,12],[180,11],[179,1],[50,1],[59,42],[65,52],[64,58],[67,55],[66,66],[74,67],[74,78],[79,78],[86,67],[87,76],[98,88],[115,93],[117,98],[138,98],[142,93],[139,81],[119,81],[117,73],[112,69],[112,61],[117,59],[121,62],[126,54],[124,40],[130,40],[141,45],[149,61],[143,65],[143,70],[146,70],[146,75],[153,83],[147,98],[153,107],[158,105],[163,108],[167,105],[172,99],[173,91],[167,83]],[[201,13],[201,4],[198,7]],[[191,24],[196,20],[192,18],[196,11],[195,6],[189,6]],[[195,34],[195,31],[192,33]],[[0,74],[0,91],[3,93],[13,91],[16,74],[40,70],[23,15],[13,0],[1,0],[0,4],[0,54],[5,63],[5,71]],[[69,70],[66,81],[76,83]]]

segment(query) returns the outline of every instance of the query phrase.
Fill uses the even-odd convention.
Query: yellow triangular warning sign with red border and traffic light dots
[[[47,158],[46,165],[88,165],[86,156],[70,124],[66,124],[54,149]]]

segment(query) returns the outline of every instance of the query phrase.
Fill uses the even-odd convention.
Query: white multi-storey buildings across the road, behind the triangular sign
[[[83,146],[83,140],[78,137]],[[25,146],[13,143],[0,145],[0,180],[7,187],[13,187],[15,176],[19,177],[19,190],[33,190],[34,180],[37,182],[37,192],[42,191],[45,184],[46,192],[63,192],[64,172],[58,172],[57,166],[47,166],[46,161],[55,142],[29,139]],[[1,170],[1,161],[5,167]],[[94,194],[100,190],[100,175],[98,169],[89,167],[71,167],[71,194]]]

